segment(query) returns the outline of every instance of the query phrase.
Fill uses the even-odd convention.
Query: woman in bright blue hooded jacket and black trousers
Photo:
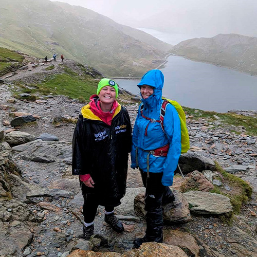
[[[156,69],[146,72],[137,85],[142,103],[134,125],[131,168],[139,168],[146,188],[146,231],[144,237],[134,240],[136,248],[145,242],[162,243],[161,206],[174,201],[169,186],[181,153],[180,120],[172,104],[163,113],[163,83],[164,76]]]

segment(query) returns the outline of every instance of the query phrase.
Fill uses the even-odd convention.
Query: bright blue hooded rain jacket
[[[144,105],[144,116],[155,120],[160,119],[163,83],[163,74],[158,69],[150,70],[142,77],[138,87],[141,87],[142,85],[154,87],[154,93],[148,99],[142,99],[141,96],[141,101]],[[147,135],[145,135],[145,128],[148,124]],[[142,117],[139,106],[138,115],[133,130],[131,168],[137,168],[136,148],[138,148],[138,166],[144,172],[147,172],[146,158],[149,152],[145,151],[155,150],[169,143],[170,148],[167,157],[155,157],[150,154],[149,172],[163,172],[162,185],[172,186],[174,171],[177,168],[178,158],[181,153],[180,120],[178,113],[172,104],[168,104],[166,107],[163,125],[165,133],[162,131],[160,123],[151,122],[150,120]]]

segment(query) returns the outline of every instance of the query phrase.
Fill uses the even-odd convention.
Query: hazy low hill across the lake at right
[[[257,75],[257,38],[250,36],[218,34],[190,39],[174,46],[172,53]]]

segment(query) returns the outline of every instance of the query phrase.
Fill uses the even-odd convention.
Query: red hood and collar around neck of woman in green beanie
[[[111,111],[109,112],[103,112],[100,106],[100,101],[97,95],[93,95],[90,97],[90,110],[92,113],[94,113],[97,117],[99,117],[104,123],[107,125],[111,125],[113,116],[115,114],[115,110],[118,107],[118,102],[115,100],[113,102],[113,106],[111,108]]]

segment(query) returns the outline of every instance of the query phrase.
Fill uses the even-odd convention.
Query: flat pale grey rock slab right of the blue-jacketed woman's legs
[[[225,195],[189,191],[184,193],[183,196],[187,198],[191,206],[191,213],[218,215],[233,211],[230,199]]]

